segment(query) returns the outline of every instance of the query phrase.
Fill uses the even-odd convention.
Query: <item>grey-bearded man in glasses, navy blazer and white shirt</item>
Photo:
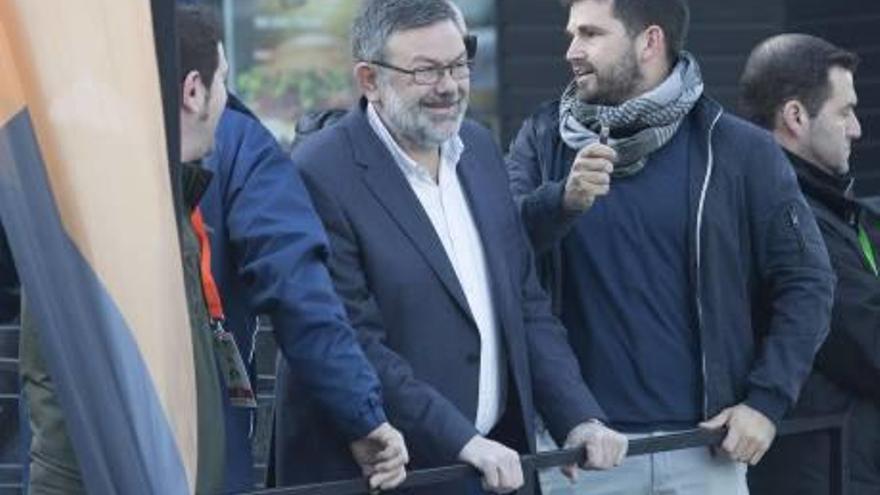
[[[470,63],[459,15],[447,0],[367,0],[352,34],[364,97],[292,157],[412,467],[463,461],[482,475],[482,489],[469,480],[418,493],[531,485],[518,453],[534,451],[536,409],[560,443],[587,450],[587,467],[619,463],[626,439],[599,422],[534,277],[497,146],[464,117]],[[279,387],[296,397],[292,378]],[[307,404],[280,406],[282,484],[353,474],[325,423]]]

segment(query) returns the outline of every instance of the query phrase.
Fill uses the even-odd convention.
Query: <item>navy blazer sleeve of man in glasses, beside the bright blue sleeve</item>
[[[382,314],[359,261],[361,251],[346,214],[329,190],[329,179],[303,171],[306,186],[330,238],[330,272],[361,346],[382,382],[391,422],[422,459],[452,463],[478,435],[474,424],[431,385],[419,380],[409,363],[386,345]]]

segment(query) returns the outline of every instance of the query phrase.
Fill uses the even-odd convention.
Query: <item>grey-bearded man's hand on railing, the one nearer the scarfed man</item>
[[[583,469],[610,469],[619,466],[626,457],[629,439],[598,421],[587,421],[575,426],[565,439],[566,449],[583,447],[587,451]],[[565,466],[562,473],[574,482],[577,466]]]

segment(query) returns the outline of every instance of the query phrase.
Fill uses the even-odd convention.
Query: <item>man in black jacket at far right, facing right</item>
[[[803,34],[770,38],[741,81],[744,116],[773,132],[816,215],[837,275],[831,333],[796,414],[846,412],[851,491],[880,492],[880,278],[868,215],[853,199],[849,157],[861,136],[853,75],[858,58]],[[780,439],[749,474],[756,494],[829,493],[823,433]]]

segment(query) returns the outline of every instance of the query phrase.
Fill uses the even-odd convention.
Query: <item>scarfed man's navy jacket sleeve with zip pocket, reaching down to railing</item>
[[[778,423],[828,334],[834,275],[791,164],[771,136],[761,139],[752,146],[744,180],[770,323],[760,336],[745,403]]]

